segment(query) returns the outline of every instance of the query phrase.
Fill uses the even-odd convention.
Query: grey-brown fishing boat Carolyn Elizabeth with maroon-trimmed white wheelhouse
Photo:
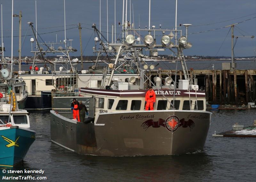
[[[95,24],[92,27],[98,32]],[[99,88],[80,89],[81,95],[90,99],[89,117],[81,123],[50,111],[53,143],[78,154],[102,156],[180,155],[204,149],[211,112],[206,111],[204,90],[199,90],[196,78],[188,74],[183,49],[189,49],[192,44],[177,26],[175,30],[165,30],[164,35],[163,30],[150,29],[150,24],[148,27],[134,29],[123,21],[124,41],[108,42],[106,46],[116,50],[115,63],[109,65],[112,71],[108,82],[102,82]],[[144,44],[137,44],[133,35],[140,37],[139,30],[149,32],[141,41]],[[150,35],[152,32],[154,37]],[[161,44],[156,43],[155,34],[162,35]],[[172,52],[179,57],[176,61],[181,63],[183,76],[178,79],[177,73],[175,77],[165,75],[163,80],[148,77],[145,73],[154,70],[154,65],[140,66],[138,54],[144,48],[176,49]],[[139,79],[130,78],[127,82],[112,79],[119,56],[127,52],[134,55],[131,61],[138,65]],[[156,95],[153,110],[144,109],[145,88],[149,86],[153,86]]]

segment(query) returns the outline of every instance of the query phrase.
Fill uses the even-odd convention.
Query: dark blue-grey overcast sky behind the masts
[[[3,41],[5,56],[11,56],[12,0],[1,0],[3,7]],[[14,0],[13,14],[22,11],[22,56],[33,56],[29,42],[32,31],[28,21],[36,26],[36,8],[34,0]],[[125,0],[126,2],[126,0]],[[44,42],[64,40],[64,1],[37,0],[37,32]],[[80,55],[78,23],[82,24],[83,55],[93,55],[94,31],[92,24],[100,28],[100,0],[66,0],[66,38],[73,39],[72,47],[78,51],[70,56]],[[115,1],[108,0],[108,39],[111,41],[111,24],[115,24]],[[127,20],[130,19],[130,0],[127,1]],[[148,0],[131,0],[131,22],[135,28],[148,27]],[[132,9],[132,7],[131,7]],[[116,38],[120,37],[123,1],[116,0]],[[134,14],[134,17],[133,15]],[[179,0],[177,25],[192,24],[188,29],[188,40],[193,44],[191,49],[184,51],[185,55],[229,56],[231,57],[231,31],[225,26],[239,23],[234,28],[235,36],[256,35],[256,1],[255,0]],[[134,18],[134,21],[133,21]],[[175,27],[175,0],[151,0],[150,25],[156,28]],[[182,33],[185,28],[181,27]],[[18,56],[19,48],[19,18],[13,18],[13,56]],[[211,30],[211,31],[209,31]],[[58,31],[58,32],[56,32]],[[101,31],[107,37],[107,0],[101,0]],[[204,32],[206,31],[206,32]],[[50,33],[53,32],[53,33]],[[201,33],[200,33],[201,32]],[[25,36],[27,34],[27,36]],[[145,35],[145,34],[144,34]],[[90,39],[91,38],[91,39]],[[161,36],[156,37],[160,43]],[[235,43],[234,39],[234,43]],[[256,39],[238,38],[234,53],[236,57],[255,56]],[[171,54],[171,51],[159,52]],[[51,56],[52,54],[48,54]]]

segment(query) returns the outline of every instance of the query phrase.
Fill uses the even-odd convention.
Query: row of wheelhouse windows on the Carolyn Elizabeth
[[[108,99],[108,109],[112,109],[114,104],[114,99]],[[173,100],[171,101],[173,104]],[[119,100],[116,106],[116,110],[127,110],[128,100]],[[140,110],[141,100],[132,100],[131,110]],[[176,109],[180,108],[180,100],[174,101],[174,106]],[[182,110],[204,110],[204,101],[197,101],[194,105],[192,105],[192,101],[186,100],[183,102]],[[96,108],[104,108],[104,98],[96,98],[96,102],[94,107]],[[156,110],[166,110],[167,109],[167,101],[159,100],[157,103]]]

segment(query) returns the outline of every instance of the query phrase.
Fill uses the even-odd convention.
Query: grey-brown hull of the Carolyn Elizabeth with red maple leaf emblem
[[[77,123],[51,111],[51,139],[78,154],[179,155],[204,149],[211,113],[154,110],[100,114]]]

